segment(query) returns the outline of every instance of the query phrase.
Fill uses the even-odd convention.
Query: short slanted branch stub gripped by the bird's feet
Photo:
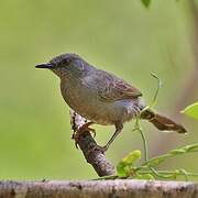
[[[87,122],[86,119],[70,110],[70,123],[74,134],[78,133],[80,127]],[[85,158],[92,165],[99,176],[114,175],[114,166],[106,160],[105,154],[98,148],[96,141],[89,131],[85,131],[78,139],[78,146],[82,151]]]

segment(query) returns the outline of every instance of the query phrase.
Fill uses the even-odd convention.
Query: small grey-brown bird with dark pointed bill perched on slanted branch
[[[65,102],[89,120],[82,127],[84,131],[95,123],[114,125],[113,135],[101,146],[103,152],[123,130],[123,124],[135,119],[140,112],[141,119],[150,121],[160,131],[186,133],[186,129],[172,119],[151,109],[143,111],[146,106],[138,88],[111,73],[98,69],[75,53],[61,54],[35,67],[50,69],[59,77]]]

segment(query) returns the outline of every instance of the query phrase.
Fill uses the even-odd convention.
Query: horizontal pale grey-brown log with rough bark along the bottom
[[[196,198],[198,184],[146,180],[0,182],[2,198]]]

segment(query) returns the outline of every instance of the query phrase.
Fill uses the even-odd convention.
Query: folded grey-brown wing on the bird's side
[[[100,98],[106,101],[133,99],[142,96],[140,90],[105,70],[98,69],[95,73],[94,81]]]

